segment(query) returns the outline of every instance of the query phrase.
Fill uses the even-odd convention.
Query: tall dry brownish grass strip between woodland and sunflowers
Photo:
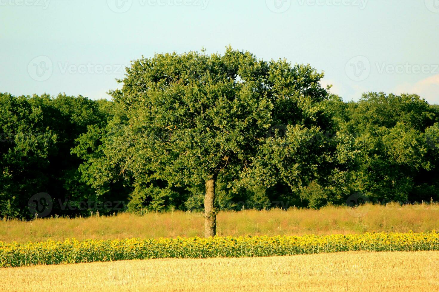
[[[367,205],[360,210],[327,207],[320,210],[220,212],[217,223],[219,236],[429,232],[439,229],[439,204]],[[0,221],[0,241],[192,237],[203,235],[203,224],[200,213],[181,211],[144,216],[46,218],[31,222],[10,220]]]

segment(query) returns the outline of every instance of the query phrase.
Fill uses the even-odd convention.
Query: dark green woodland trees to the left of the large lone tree
[[[0,217],[32,217],[28,201],[40,192],[50,193],[55,202],[96,201],[78,171],[83,160],[70,152],[79,135],[105,126],[109,113],[101,110],[103,103],[62,94],[0,93]],[[90,145],[90,153],[95,150]],[[54,204],[53,214],[69,211]]]

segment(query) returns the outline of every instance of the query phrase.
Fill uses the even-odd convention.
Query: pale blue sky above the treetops
[[[439,0],[0,0],[0,92],[110,99],[131,60],[229,44],[309,63],[345,101],[439,104]]]

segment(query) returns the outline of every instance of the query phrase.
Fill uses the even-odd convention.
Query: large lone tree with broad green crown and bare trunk
[[[120,173],[144,187],[203,183],[205,236],[214,236],[219,175],[234,190],[279,181],[300,190],[342,175],[334,165],[346,157],[323,135],[331,120],[322,77],[309,65],[266,62],[230,47],[223,55],[132,61],[122,89],[111,91],[128,118],[113,157]]]

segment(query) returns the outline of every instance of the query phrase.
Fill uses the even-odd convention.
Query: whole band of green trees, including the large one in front
[[[0,217],[438,200],[439,107],[323,76],[229,47],[134,60],[112,101],[0,93]]]

